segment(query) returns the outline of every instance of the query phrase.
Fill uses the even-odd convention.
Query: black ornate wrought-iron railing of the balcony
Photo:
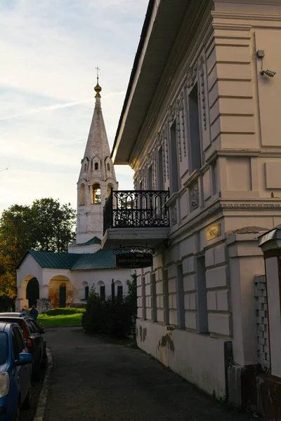
[[[103,234],[107,228],[169,227],[169,191],[111,190],[103,208]]]

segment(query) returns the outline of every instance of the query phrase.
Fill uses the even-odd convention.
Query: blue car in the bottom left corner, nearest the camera
[[[29,408],[32,355],[15,323],[0,322],[0,421],[18,421]]]

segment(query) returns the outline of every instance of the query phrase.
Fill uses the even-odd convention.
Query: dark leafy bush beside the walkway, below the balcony
[[[92,290],[82,316],[82,326],[88,333],[105,333],[115,338],[126,338],[133,333],[136,314],[136,276],[128,281],[129,293],[122,298],[106,298]]]

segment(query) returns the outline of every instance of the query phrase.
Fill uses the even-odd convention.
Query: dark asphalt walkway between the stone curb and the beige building
[[[47,329],[53,354],[44,421],[249,421],[138,349],[77,328]]]

